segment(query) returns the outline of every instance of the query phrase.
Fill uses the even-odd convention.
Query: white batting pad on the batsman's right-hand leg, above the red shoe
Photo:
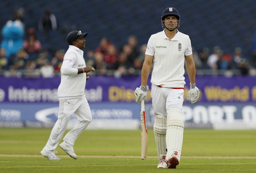
[[[180,161],[180,154],[183,142],[184,122],[180,109],[171,109],[167,115],[166,129],[166,160],[176,156]]]

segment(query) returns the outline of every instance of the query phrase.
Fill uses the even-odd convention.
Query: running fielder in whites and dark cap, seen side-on
[[[68,121],[72,114],[75,114],[78,122],[63,138],[64,142],[60,144],[70,157],[77,159],[74,152],[74,143],[77,137],[92,121],[92,113],[87,99],[85,98],[84,89],[86,80],[89,78],[88,72],[95,71],[92,66],[85,65],[84,51],[87,33],[81,31],[72,31],[67,36],[69,44],[63,64],[61,66],[61,82],[58,88],[58,98],[60,102],[58,120],[55,123],[50,138],[48,139],[41,154],[49,160],[60,160],[55,155],[55,150],[62,138]]]

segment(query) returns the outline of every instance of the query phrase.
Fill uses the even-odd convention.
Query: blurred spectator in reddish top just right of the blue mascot
[[[28,53],[41,51],[42,45],[41,42],[36,38],[36,31],[34,28],[28,29],[28,39],[24,41],[23,48]]]

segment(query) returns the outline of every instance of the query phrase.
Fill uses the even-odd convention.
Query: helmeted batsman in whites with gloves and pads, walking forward
[[[155,114],[154,134],[159,163],[157,168],[173,168],[180,162],[184,122],[182,104],[185,77],[184,60],[190,80],[187,100],[196,103],[199,90],[195,82],[195,63],[188,35],[180,33],[179,12],[166,8],[162,14],[162,32],[151,35],[141,72],[141,85],[134,94],[136,102],[147,98],[147,81],[152,60],[151,100]]]

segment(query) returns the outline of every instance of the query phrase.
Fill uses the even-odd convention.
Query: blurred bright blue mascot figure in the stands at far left
[[[24,28],[20,20],[8,20],[2,29],[1,48],[6,50],[6,57],[16,54],[23,45]]]

